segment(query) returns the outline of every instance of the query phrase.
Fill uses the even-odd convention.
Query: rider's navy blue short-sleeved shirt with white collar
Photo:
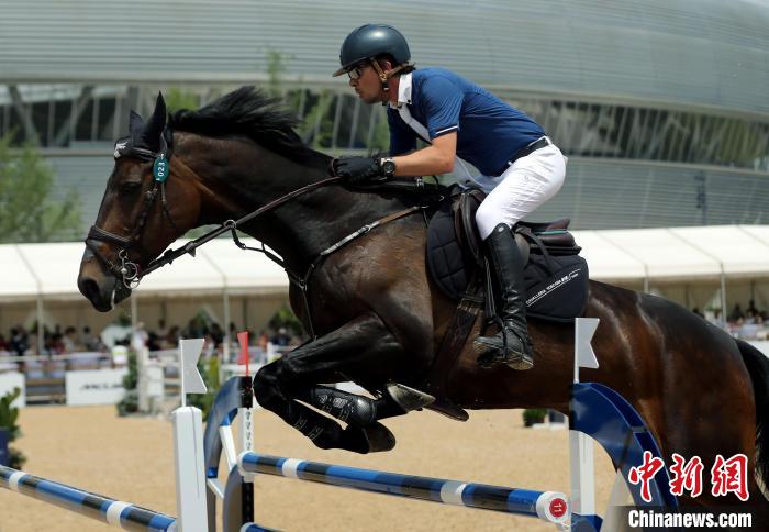
[[[402,106],[427,130],[425,141],[456,131],[457,156],[486,176],[499,176],[521,148],[545,135],[523,112],[445,68],[422,68],[401,76],[398,101],[387,110],[392,156],[416,148],[416,133],[399,112]]]

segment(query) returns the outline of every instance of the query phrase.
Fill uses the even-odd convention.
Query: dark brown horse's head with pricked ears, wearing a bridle
[[[131,296],[142,269],[199,218],[194,179],[171,157],[166,119],[158,95],[152,118],[144,122],[131,111],[130,135],[115,143],[114,168],[78,275],[80,292],[101,312]]]

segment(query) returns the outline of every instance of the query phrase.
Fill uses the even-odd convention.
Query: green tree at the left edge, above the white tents
[[[54,169],[32,144],[11,149],[0,137],[0,242],[51,242],[81,236],[80,198],[54,195]]]

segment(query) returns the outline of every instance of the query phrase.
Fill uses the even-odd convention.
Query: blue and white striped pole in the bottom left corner
[[[0,466],[0,487],[56,505],[123,530],[176,531],[176,519],[146,508],[83,491]],[[10,525],[10,523],[4,523]]]

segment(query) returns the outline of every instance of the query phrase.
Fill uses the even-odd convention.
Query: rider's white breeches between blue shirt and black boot
[[[486,240],[500,223],[512,228],[553,198],[564,185],[566,160],[560,149],[549,144],[519,158],[501,176],[486,178],[498,185],[476,212],[481,239]]]

